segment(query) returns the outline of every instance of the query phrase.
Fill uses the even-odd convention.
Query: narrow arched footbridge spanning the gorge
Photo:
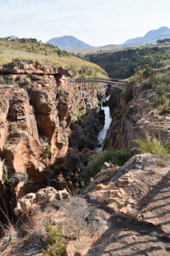
[[[74,85],[78,85],[79,83],[84,83],[84,82],[96,82],[96,83],[107,83],[108,85],[112,85],[116,88],[119,88],[124,91],[125,86],[129,86],[132,83],[126,83],[121,79],[113,79],[109,77],[78,77],[75,79],[68,79],[68,83],[75,83]]]

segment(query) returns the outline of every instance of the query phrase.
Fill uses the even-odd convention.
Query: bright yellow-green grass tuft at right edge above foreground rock
[[[160,135],[159,140],[156,138],[155,135],[152,135],[152,137],[150,137],[147,132],[145,132],[145,136],[146,138],[143,138],[143,140],[141,140],[140,138],[137,140],[132,140],[133,143],[137,144],[137,149],[140,153],[151,153],[153,155],[158,155],[163,158],[169,157],[170,138],[168,138],[163,144],[160,140]]]

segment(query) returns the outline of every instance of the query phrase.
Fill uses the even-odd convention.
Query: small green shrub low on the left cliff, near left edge
[[[22,173],[19,171],[18,173],[15,174],[10,174],[4,173],[2,175],[2,179],[4,180],[4,184],[7,188],[11,187],[14,185],[15,182],[24,182],[25,184],[28,182],[28,174],[27,173]]]

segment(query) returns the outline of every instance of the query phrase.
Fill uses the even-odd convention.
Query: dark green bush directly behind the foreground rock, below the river
[[[88,183],[97,173],[100,172],[104,162],[110,162],[114,165],[122,166],[128,161],[130,153],[127,150],[107,150],[89,156],[88,164],[85,167],[82,179],[85,184]]]

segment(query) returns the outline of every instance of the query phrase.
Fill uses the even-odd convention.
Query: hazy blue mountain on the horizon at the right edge
[[[129,40],[125,41],[125,43],[123,43],[122,46],[124,46],[125,44],[128,44],[128,45],[134,44],[135,45],[135,43],[139,43],[139,42],[141,43],[142,41],[145,41],[145,43],[147,43],[147,41],[149,41],[148,43],[150,43],[150,40],[156,40],[156,39],[158,40],[160,38],[166,38],[166,35],[168,35],[169,33],[170,33],[170,29],[167,28],[166,26],[162,26],[159,29],[154,29],[154,30],[147,32],[146,35],[144,35],[144,37],[137,37],[137,38],[129,39]]]

